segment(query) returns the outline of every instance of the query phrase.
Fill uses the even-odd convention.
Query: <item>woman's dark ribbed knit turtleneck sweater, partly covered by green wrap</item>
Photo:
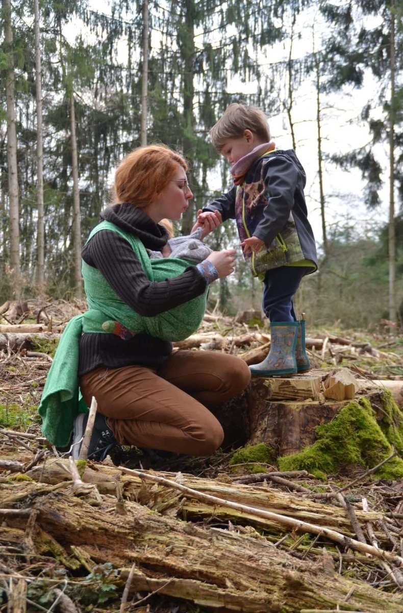
[[[125,232],[140,238],[146,249],[160,251],[167,243],[164,227],[154,223],[140,208],[131,204],[114,205],[101,213]],[[116,294],[141,316],[153,317],[188,302],[206,289],[205,278],[195,266],[182,275],[159,283],[149,281],[129,242],[110,230],[100,230],[86,243],[83,260],[97,268]],[[118,368],[132,364],[157,368],[172,351],[171,343],[148,334],[122,340],[115,334],[83,334],[80,339],[78,375],[94,368]]]

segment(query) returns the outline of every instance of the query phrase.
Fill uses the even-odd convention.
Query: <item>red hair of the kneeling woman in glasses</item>
[[[187,172],[186,160],[166,145],[138,147],[116,169],[115,204],[129,202],[146,207],[175,177],[179,167]]]

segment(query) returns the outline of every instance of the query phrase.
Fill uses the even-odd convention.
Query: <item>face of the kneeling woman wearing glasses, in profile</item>
[[[186,172],[179,166],[167,187],[162,190],[154,202],[145,208],[145,212],[156,223],[165,218],[179,221],[181,215],[189,207],[189,200],[192,197]]]

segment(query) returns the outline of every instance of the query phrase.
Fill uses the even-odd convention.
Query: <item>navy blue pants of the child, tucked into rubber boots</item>
[[[281,266],[267,270],[263,281],[262,308],[271,321],[297,321],[293,295],[301,279],[312,268],[306,266]]]

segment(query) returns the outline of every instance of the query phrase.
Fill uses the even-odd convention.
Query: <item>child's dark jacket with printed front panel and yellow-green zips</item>
[[[293,150],[273,151],[250,166],[242,186],[234,186],[205,208],[221,211],[223,221],[235,218],[241,241],[252,235],[264,241],[258,254],[244,254],[255,276],[304,259],[317,265],[305,182]]]

